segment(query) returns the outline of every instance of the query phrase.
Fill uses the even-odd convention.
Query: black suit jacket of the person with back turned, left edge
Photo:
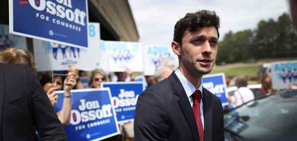
[[[0,64],[0,140],[67,140],[46,93],[24,65]]]

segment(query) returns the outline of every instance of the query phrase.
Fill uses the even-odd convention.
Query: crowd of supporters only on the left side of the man
[[[69,66],[68,71],[37,72],[33,55],[27,51],[16,48],[6,48],[0,51],[0,63],[26,65],[37,78],[47,94],[49,101],[54,107],[57,104],[58,95],[56,91],[64,91],[63,106],[56,114],[61,123],[67,126],[70,123],[72,109],[72,89],[101,88],[102,82],[134,81],[135,74],[129,68],[125,72],[114,72],[108,74],[102,68],[91,72],[78,70],[76,66]],[[48,64],[50,65],[50,64]],[[146,75],[147,87],[168,77],[177,65],[170,60],[163,60],[157,66],[155,75]],[[82,81],[82,78],[87,81]],[[133,121],[120,125],[122,134],[106,138],[104,140],[133,140]]]

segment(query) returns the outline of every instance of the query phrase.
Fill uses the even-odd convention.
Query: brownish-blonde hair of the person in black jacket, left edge
[[[22,58],[24,62],[22,62]],[[7,48],[0,52],[0,63],[24,64],[28,66],[33,73],[37,72],[36,65],[34,62],[34,57],[27,50]]]

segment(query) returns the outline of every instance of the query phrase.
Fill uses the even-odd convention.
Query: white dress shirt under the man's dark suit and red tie
[[[182,74],[180,69],[176,69],[174,71],[176,74],[177,78],[181,81],[184,90],[189,98],[189,101],[191,103],[191,107],[193,107],[193,99],[192,99],[192,94],[196,91],[199,90],[201,92],[201,101],[200,101],[200,117],[201,117],[201,122],[204,128],[204,117],[203,117],[203,102],[202,102],[202,97],[203,97],[203,91],[202,91],[202,84],[199,85],[198,89],[194,87],[194,85]]]

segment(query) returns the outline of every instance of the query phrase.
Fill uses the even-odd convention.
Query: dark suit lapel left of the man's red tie
[[[174,94],[176,94],[177,96],[180,97],[179,103],[180,103],[180,106],[181,106],[181,108],[183,110],[185,118],[187,120],[187,123],[188,123],[188,125],[189,125],[189,127],[191,129],[192,136],[193,136],[194,140],[195,141],[200,140],[197,125],[196,125],[196,120],[195,120],[195,116],[194,116],[194,112],[192,110],[190,101],[188,99],[188,96],[187,96],[184,88],[183,88],[183,85],[182,85],[181,81],[175,75],[174,72],[171,73],[171,75],[168,77],[168,79],[170,80],[170,83],[171,83],[171,86],[173,88]]]

